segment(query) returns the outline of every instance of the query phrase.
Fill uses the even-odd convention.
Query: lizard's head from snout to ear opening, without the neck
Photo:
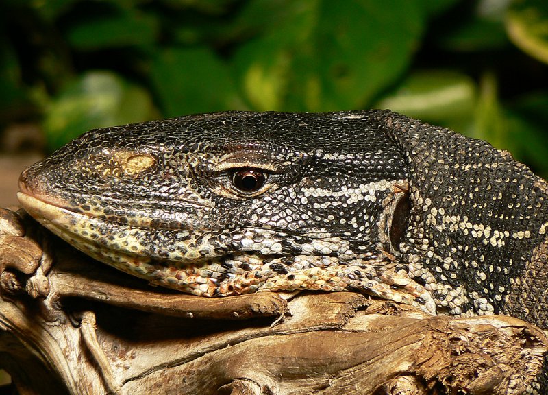
[[[26,169],[19,199],[99,261],[183,291],[367,287],[396,265],[410,209],[405,157],[375,114],[92,130]]]

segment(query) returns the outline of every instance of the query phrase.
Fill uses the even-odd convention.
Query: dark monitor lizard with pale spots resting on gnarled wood
[[[548,185],[386,110],[217,112],[91,130],[21,175],[75,247],[200,296],[360,291],[548,328]]]

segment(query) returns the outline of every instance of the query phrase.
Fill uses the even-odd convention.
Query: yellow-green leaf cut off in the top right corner
[[[506,30],[519,49],[548,63],[548,1],[514,0],[506,15]]]

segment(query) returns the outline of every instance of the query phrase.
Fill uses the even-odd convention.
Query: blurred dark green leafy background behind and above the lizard
[[[0,128],[38,125],[45,151],[192,112],[390,108],[548,176],[546,0],[2,0],[0,15]]]

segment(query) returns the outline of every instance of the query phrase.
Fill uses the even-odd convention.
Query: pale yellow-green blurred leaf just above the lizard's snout
[[[157,117],[149,94],[108,71],[89,71],[53,100],[44,121],[53,150],[93,128]]]

